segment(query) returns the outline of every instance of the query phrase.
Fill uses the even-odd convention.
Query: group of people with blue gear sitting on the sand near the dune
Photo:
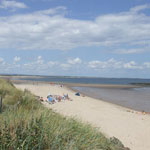
[[[63,94],[63,96],[48,94],[46,102],[48,102],[49,104],[54,104],[54,103],[65,101],[65,100],[72,101],[72,99],[69,98],[68,94]],[[43,97],[40,97],[40,101],[41,102],[44,101]]]

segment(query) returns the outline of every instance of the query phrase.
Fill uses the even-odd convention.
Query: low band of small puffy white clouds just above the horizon
[[[19,60],[16,57],[16,60]],[[75,62],[80,62],[80,59],[72,59],[78,60]],[[124,71],[128,72],[128,70],[136,70],[142,72],[148,72],[150,68],[150,62],[137,63],[136,61],[120,61],[114,58],[100,61],[100,60],[92,60],[89,62],[81,63],[69,63],[60,62],[60,61],[46,61],[42,56],[38,56],[36,59],[33,58],[33,61],[20,63],[10,63],[5,61],[0,57],[0,73],[28,73],[28,74],[53,74],[56,75],[61,74],[84,74],[86,71],[88,72],[119,72]],[[85,69],[86,68],[86,69]]]

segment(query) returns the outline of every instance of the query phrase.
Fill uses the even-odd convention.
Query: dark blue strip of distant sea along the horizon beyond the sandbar
[[[22,78],[22,80],[62,82],[62,83],[83,83],[83,84],[130,84],[150,83],[150,79],[136,78],[92,78],[92,77],[63,77],[63,76],[41,76],[40,78]]]

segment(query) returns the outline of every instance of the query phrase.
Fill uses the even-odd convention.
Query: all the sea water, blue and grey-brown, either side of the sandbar
[[[84,83],[84,84],[130,84],[150,83],[150,79],[132,78],[84,78],[84,77],[40,77],[23,78],[22,80],[46,81],[59,83]],[[108,89],[93,87],[73,87],[87,96],[101,99],[110,103],[121,105],[139,111],[150,112],[150,87],[130,89]]]

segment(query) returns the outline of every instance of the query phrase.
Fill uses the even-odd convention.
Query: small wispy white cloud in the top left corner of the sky
[[[17,2],[13,0],[2,0],[0,2],[0,8],[12,9],[13,11],[15,11],[17,8],[27,8],[27,6],[22,2]]]

